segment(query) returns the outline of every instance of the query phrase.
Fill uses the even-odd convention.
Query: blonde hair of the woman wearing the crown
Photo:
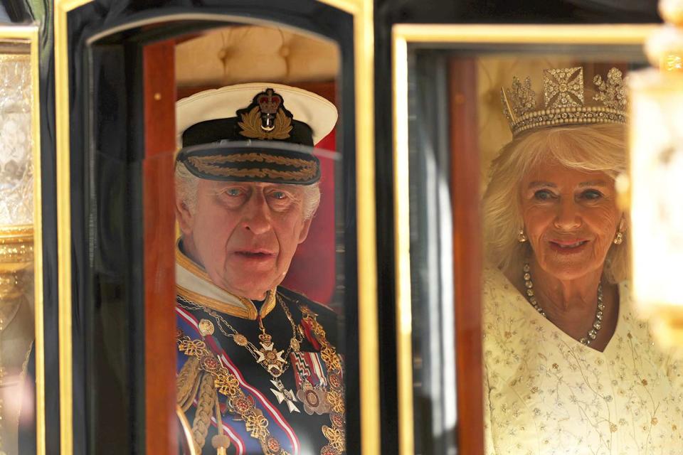
[[[524,224],[519,186],[531,169],[551,159],[567,168],[600,171],[616,178],[627,167],[625,131],[622,124],[546,128],[521,134],[503,146],[492,161],[483,200],[487,258],[507,272],[521,267],[531,255],[529,242],[518,241]],[[608,281],[628,278],[628,250],[628,235],[621,245],[610,247],[603,269]]]

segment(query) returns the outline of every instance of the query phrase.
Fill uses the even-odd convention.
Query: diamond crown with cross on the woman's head
[[[622,73],[612,68],[607,79],[593,77],[591,105],[585,100],[583,68],[543,71],[543,105],[536,104],[531,79],[512,77],[512,87],[501,89],[503,113],[512,135],[534,128],[592,123],[626,123],[626,85]]]

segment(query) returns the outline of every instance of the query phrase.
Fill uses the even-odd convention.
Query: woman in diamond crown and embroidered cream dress
[[[632,310],[620,71],[502,91],[513,139],[484,198],[487,454],[681,454],[683,363]],[[595,95],[588,95],[594,90]]]

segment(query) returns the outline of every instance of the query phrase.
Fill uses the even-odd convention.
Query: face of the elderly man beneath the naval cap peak
[[[297,185],[199,179],[194,211],[176,201],[185,253],[223,289],[263,299],[308,235],[303,197]]]

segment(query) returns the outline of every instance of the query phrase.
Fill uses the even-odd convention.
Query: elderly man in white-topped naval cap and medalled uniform
[[[177,402],[201,454],[345,453],[337,318],[280,287],[337,109],[250,83],[177,103]]]

